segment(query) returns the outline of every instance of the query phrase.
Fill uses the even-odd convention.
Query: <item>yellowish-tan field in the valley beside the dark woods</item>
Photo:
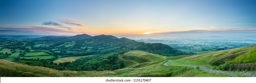
[[[89,57],[89,56],[93,56],[93,55],[88,55],[88,56],[77,56],[77,57],[65,57],[65,58],[59,58],[58,60],[53,61],[54,63],[64,63],[64,62],[72,62],[75,61],[78,58],[82,58],[82,57]]]

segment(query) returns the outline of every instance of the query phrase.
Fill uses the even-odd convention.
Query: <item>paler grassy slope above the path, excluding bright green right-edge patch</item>
[[[236,55],[249,52],[250,50],[253,50],[253,49],[256,49],[256,46],[189,55],[181,58],[180,56],[175,56],[170,59],[173,61],[169,62],[168,65],[186,64],[186,65],[200,65],[200,66],[213,67],[214,65],[224,64],[226,61],[233,60],[235,59]]]

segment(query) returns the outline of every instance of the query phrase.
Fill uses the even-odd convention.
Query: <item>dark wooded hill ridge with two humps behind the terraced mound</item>
[[[90,52],[97,55],[110,54],[120,50],[142,50],[164,56],[186,55],[186,53],[175,50],[166,44],[144,43],[127,38],[117,38],[111,35],[92,36],[88,39],[78,40],[74,46],[90,47]]]

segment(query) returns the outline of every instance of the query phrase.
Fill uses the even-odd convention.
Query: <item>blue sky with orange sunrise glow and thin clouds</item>
[[[0,0],[0,34],[83,33],[92,36],[255,36],[256,1]]]

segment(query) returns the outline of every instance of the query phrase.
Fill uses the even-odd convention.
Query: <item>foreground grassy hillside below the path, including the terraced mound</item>
[[[132,58],[134,57],[134,58]],[[164,66],[164,56],[142,51],[130,51],[120,55],[127,61],[126,68],[114,71],[59,71],[51,68],[28,66],[0,60],[0,76],[3,77],[227,77],[186,66]],[[142,61],[136,58],[142,59]]]

